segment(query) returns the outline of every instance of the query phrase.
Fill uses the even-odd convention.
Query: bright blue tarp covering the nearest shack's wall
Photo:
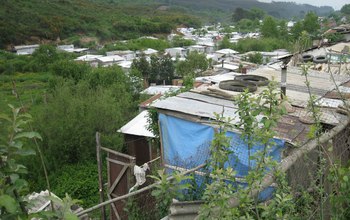
[[[165,114],[159,114],[160,129],[162,133],[162,146],[164,162],[169,165],[193,168],[199,166],[209,158],[210,144],[214,138],[214,128],[209,125],[190,122]],[[244,177],[248,173],[248,146],[241,139],[240,134],[227,132],[231,138],[232,154],[226,166],[233,167],[237,171],[237,177]],[[284,141],[273,139],[274,146],[268,150],[268,155],[274,160],[281,161],[281,151]],[[253,146],[250,154],[262,150],[263,146]],[[252,167],[255,161],[251,160]],[[266,189],[269,193],[260,194],[263,199],[271,196],[271,188]]]

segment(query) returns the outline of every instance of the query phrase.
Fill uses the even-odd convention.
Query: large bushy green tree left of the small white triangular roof
[[[78,83],[58,80],[51,91],[35,116],[49,169],[95,159],[96,131],[106,145],[122,150],[116,131],[137,111],[138,91],[120,68],[94,69]]]

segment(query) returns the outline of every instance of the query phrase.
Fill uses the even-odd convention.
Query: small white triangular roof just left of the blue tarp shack
[[[155,137],[152,132],[147,130],[148,123],[148,111],[143,111],[135,118],[129,121],[126,125],[118,130],[123,134],[131,134],[143,137]]]

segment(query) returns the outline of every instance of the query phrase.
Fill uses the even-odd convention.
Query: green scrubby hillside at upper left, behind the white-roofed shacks
[[[159,4],[118,4],[89,0],[3,0],[0,8],[0,48],[82,37],[100,41],[164,34],[177,25],[198,26],[199,19]]]

